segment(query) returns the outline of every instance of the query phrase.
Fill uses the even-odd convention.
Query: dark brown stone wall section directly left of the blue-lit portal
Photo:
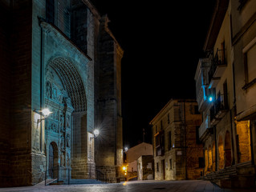
[[[15,2],[11,31],[11,142],[12,186],[31,184],[31,1]]]

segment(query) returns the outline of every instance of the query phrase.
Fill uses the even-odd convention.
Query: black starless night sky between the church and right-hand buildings
[[[124,50],[124,146],[151,142],[149,122],[171,98],[195,98],[193,80],[214,0],[91,0]]]

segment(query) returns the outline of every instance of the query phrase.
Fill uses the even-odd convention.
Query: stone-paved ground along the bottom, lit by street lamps
[[[43,191],[68,191],[68,192],[252,192],[250,189],[221,189],[208,181],[135,181],[112,184],[83,184],[83,185],[61,185],[61,186],[22,186],[11,188],[0,188],[1,192],[43,192]]]

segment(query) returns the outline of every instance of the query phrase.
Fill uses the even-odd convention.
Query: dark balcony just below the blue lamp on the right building
[[[224,102],[225,95],[221,95],[213,103],[213,106],[210,108],[210,125],[215,126],[218,122],[221,121],[221,118],[226,114],[228,107]]]

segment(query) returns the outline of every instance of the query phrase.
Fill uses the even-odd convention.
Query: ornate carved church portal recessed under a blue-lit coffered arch
[[[47,65],[45,81],[45,106],[51,110],[47,118],[45,138],[47,148],[47,169],[59,166],[61,174],[67,175],[72,166],[75,168],[79,158],[86,154],[83,143],[87,134],[86,129],[86,98],[83,82],[75,66],[67,59],[55,57]],[[81,130],[81,125],[83,130]],[[57,143],[57,157],[54,160],[54,147]],[[71,144],[73,143],[73,145]],[[72,150],[75,145],[75,151]],[[56,154],[55,153],[55,154]],[[85,156],[83,156],[85,157]],[[87,160],[83,158],[83,163]],[[86,168],[86,166],[84,165]],[[85,172],[91,170],[84,169]],[[50,170],[49,170],[50,171]],[[81,178],[84,178],[83,177]],[[91,173],[89,173],[91,175]],[[72,176],[75,178],[75,176]]]

